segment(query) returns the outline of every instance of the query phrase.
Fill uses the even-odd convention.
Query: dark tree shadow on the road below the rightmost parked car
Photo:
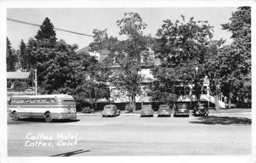
[[[198,117],[199,121],[190,121],[189,123],[194,124],[207,124],[207,125],[234,125],[234,124],[242,124],[242,125],[251,125],[252,120],[244,117]]]

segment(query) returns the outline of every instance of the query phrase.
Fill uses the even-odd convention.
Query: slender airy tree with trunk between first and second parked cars
[[[119,34],[125,35],[127,40],[119,41],[116,37],[108,37],[107,29],[100,31],[95,29],[94,42],[90,44],[92,50],[111,51],[107,63],[117,64],[119,71],[113,71],[112,84],[125,87],[131,94],[132,104],[136,103],[136,94],[139,84],[144,80],[140,75],[143,66],[148,65],[149,48],[151,37],[143,35],[143,29],[147,24],[143,22],[138,13],[125,13],[124,18],[117,20],[120,29]]]

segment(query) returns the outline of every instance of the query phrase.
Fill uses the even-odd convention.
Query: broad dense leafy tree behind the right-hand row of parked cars
[[[156,58],[160,66],[154,70],[156,80],[152,83],[153,100],[173,101],[175,89],[182,83],[195,86],[195,95],[200,100],[199,90],[204,81],[204,58],[212,39],[213,26],[208,21],[194,21],[191,17],[185,22],[163,20],[162,28],[157,30],[154,44]]]

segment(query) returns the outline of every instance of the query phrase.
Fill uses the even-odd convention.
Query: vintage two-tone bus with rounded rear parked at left
[[[67,94],[12,96],[8,104],[13,120],[33,117],[52,122],[53,119],[76,118],[76,102]]]

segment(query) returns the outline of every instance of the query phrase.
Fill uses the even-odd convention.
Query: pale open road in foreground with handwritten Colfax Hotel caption
[[[239,123],[250,119],[251,114],[97,115],[45,123],[8,117],[8,156],[247,155],[251,154],[251,126]]]

